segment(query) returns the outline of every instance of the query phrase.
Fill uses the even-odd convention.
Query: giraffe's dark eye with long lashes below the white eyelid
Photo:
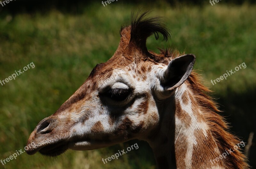
[[[120,102],[120,101],[124,101],[131,93],[132,93],[131,89],[111,88],[105,94],[112,100]]]

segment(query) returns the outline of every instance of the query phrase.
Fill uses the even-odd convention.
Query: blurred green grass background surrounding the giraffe
[[[18,1],[10,2],[11,9]],[[17,5],[17,4],[16,4]],[[33,62],[16,80],[0,85],[0,159],[24,149],[30,133],[45,117],[79,88],[92,68],[107,61],[115,52],[121,25],[129,25],[132,9],[151,9],[152,16],[165,17],[171,29],[168,43],[150,37],[148,49],[173,45],[180,52],[196,55],[195,69],[202,70],[204,84],[220,103],[221,113],[231,130],[244,142],[256,131],[256,5],[220,1],[212,6],[175,4],[165,1],[124,3],[115,1],[103,7],[101,2],[79,6],[79,12],[52,7],[46,11],[0,13],[0,80]],[[226,70],[245,62],[235,74],[216,85],[210,82]],[[255,138],[253,140],[255,142]],[[138,143],[132,150],[104,164],[118,150]],[[256,166],[255,143],[249,164]],[[156,168],[152,150],[146,142],[133,140],[93,151],[68,151],[57,158],[25,153],[0,168]]]

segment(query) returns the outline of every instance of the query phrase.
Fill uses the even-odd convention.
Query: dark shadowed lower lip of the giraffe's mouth
[[[68,142],[60,141],[54,144],[46,145],[39,150],[39,153],[45,156],[58,156],[68,150]]]

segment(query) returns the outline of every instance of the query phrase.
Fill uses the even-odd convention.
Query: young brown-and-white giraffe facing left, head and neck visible
[[[170,37],[163,18],[148,13],[132,13],[114,55],[36,126],[27,143],[36,146],[28,154],[58,156],[140,139],[152,148],[159,169],[248,168],[240,148],[219,158],[239,140],[192,70],[195,55],[147,49],[149,36]]]

